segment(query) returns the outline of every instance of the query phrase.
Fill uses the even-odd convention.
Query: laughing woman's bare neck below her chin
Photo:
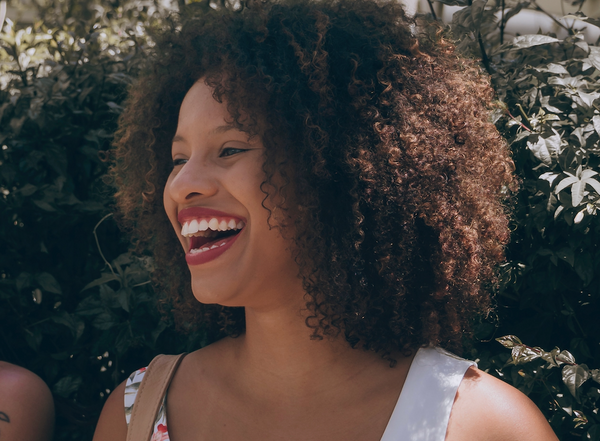
[[[302,299],[302,296],[294,296]],[[246,307],[246,333],[237,339],[236,364],[254,390],[312,396],[387,362],[373,352],[352,349],[343,334],[311,339],[304,301],[278,308]]]

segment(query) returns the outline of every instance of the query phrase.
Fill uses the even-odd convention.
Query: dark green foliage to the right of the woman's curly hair
[[[459,49],[491,74],[496,124],[522,179],[498,320],[480,325],[487,341],[472,356],[529,395],[561,440],[600,440],[600,47],[573,26],[564,40],[506,38],[506,22],[526,5],[475,0],[451,25]],[[571,19],[600,24],[580,12]],[[499,339],[511,358],[493,340],[503,334],[556,349]]]

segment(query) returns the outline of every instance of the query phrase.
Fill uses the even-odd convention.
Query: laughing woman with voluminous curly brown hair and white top
[[[233,8],[235,9],[235,8]],[[394,2],[253,2],[165,32],[113,176],[187,355],[155,440],[552,440],[459,352],[508,242],[491,89]],[[125,440],[140,370],[95,440]],[[126,396],[125,396],[126,395]]]

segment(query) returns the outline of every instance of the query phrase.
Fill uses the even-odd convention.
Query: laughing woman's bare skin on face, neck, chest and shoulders
[[[412,357],[394,354],[398,364],[391,368],[378,354],[353,350],[343,339],[309,338],[290,242],[268,227],[261,205],[263,146],[236,129],[225,130],[228,119],[226,104],[215,101],[202,81],[188,92],[164,205],[177,233],[177,213],[193,206],[247,220],[228,251],[190,267],[199,301],[245,307],[246,333],[184,359],[169,388],[171,440],[377,441]],[[179,237],[187,251],[188,239]],[[109,397],[94,441],[125,440],[123,390],[121,384]],[[446,436],[465,439],[557,438],[527,397],[470,368]]]

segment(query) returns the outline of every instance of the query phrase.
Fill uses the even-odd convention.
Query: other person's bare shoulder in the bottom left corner
[[[46,383],[0,361],[0,440],[49,441],[53,432],[54,401]]]

